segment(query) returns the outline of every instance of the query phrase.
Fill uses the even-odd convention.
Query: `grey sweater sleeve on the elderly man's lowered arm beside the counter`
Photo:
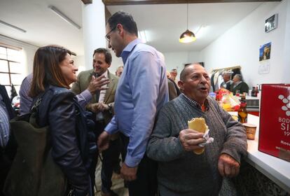
[[[215,107],[221,114],[223,123],[226,125],[226,141],[223,144],[221,153],[226,153],[240,162],[242,157],[247,156],[247,134],[244,126],[234,120],[227,111],[215,103]]]

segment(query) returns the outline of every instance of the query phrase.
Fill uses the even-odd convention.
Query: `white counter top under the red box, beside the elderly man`
[[[255,140],[248,139],[247,162],[290,193],[290,162],[258,151],[258,116],[248,115],[248,123],[257,125]]]

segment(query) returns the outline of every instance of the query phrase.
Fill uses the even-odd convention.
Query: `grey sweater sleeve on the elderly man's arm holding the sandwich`
[[[169,162],[181,158],[184,153],[179,137],[172,137],[172,119],[165,108],[158,114],[156,126],[149,139],[147,156],[156,161]]]

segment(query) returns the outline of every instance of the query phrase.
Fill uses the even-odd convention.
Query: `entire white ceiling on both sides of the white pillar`
[[[179,43],[180,34],[186,30],[186,4],[161,4],[140,6],[108,6],[111,13],[124,10],[133,15],[139,30],[146,31],[148,44],[160,52],[199,51],[237,24],[258,3],[198,3],[188,6],[188,29],[198,31],[197,41]],[[63,45],[78,55],[83,55],[82,29],[76,29],[55,15],[48,6],[82,26],[81,0],[0,0],[0,20],[27,32],[22,33],[0,24],[0,34],[32,43],[37,46]]]

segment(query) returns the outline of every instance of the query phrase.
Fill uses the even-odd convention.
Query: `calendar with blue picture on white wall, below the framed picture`
[[[265,43],[260,47],[258,73],[270,72],[270,54],[271,54],[271,42]]]

